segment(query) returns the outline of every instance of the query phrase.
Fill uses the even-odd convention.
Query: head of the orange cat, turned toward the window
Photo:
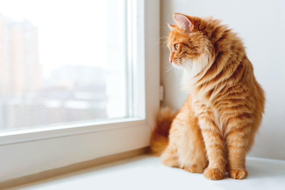
[[[169,62],[173,66],[199,73],[207,64],[210,49],[212,26],[207,19],[174,13],[176,25],[171,29],[167,45],[170,50]]]

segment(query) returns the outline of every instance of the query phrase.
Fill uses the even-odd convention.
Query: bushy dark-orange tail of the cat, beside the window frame
[[[172,120],[177,115],[177,111],[170,108],[161,108],[157,118],[154,131],[150,137],[150,154],[160,156],[168,145],[168,135]]]

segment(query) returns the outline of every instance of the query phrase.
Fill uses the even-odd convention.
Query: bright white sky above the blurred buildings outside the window
[[[38,27],[45,73],[66,64],[106,67],[106,1],[0,0],[0,13]]]

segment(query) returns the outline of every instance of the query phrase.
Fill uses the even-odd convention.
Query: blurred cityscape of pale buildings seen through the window
[[[0,131],[106,118],[106,71],[59,66],[45,76],[38,29],[0,13]]]

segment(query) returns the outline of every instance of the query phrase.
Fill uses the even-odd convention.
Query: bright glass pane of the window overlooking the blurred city
[[[125,0],[0,0],[0,131],[129,117]]]

